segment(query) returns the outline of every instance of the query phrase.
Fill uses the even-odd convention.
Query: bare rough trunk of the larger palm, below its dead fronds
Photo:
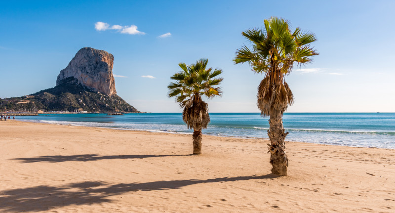
[[[270,139],[269,152],[270,164],[272,164],[272,172],[277,175],[286,176],[288,158],[285,154],[285,129],[282,126],[282,116],[280,112],[273,112],[269,119],[270,128],[268,135]]]

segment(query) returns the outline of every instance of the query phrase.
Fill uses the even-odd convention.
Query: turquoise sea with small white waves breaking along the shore
[[[57,125],[192,134],[181,113],[40,114],[17,120]],[[210,113],[203,134],[267,139],[268,117],[260,113]],[[395,113],[284,113],[286,141],[395,149]]]

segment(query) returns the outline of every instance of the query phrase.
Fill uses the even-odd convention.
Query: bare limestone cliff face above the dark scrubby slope
[[[84,47],[56,79],[59,85],[66,78],[75,78],[80,85],[88,86],[110,96],[117,94],[113,76],[114,56],[104,50]]]

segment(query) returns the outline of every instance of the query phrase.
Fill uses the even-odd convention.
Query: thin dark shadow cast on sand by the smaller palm
[[[192,154],[190,154],[192,155]],[[36,163],[36,162],[48,162],[48,163],[59,163],[65,161],[97,161],[97,160],[109,160],[109,159],[143,159],[143,158],[155,158],[155,157],[167,157],[167,156],[190,156],[190,155],[48,155],[40,156],[37,158],[13,158],[9,160],[21,161],[21,163]]]

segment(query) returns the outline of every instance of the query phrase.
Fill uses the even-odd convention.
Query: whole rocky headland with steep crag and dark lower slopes
[[[139,111],[117,95],[113,76],[114,56],[104,50],[84,47],[60,71],[56,86],[14,98],[0,99],[0,111]]]

